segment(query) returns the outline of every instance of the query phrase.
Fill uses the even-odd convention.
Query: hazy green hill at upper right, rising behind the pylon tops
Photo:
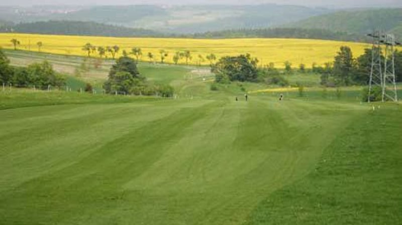
[[[283,27],[331,29],[332,31],[366,34],[374,29],[391,31],[402,38],[402,9],[342,11],[311,17]]]

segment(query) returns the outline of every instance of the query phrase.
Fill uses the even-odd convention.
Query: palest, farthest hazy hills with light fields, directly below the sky
[[[287,5],[0,7],[0,20],[15,23],[85,21],[175,34],[243,28],[277,27],[331,13],[320,8]]]

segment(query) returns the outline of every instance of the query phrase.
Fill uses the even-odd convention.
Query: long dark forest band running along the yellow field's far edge
[[[306,28],[255,28],[230,29],[193,34],[160,33],[147,29],[128,28],[95,22],[47,21],[0,26],[0,32],[27,34],[78,35],[104,37],[154,37],[154,38],[301,38],[338,41],[368,41],[361,34]]]

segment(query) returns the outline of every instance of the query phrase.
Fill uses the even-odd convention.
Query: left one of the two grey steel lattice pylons
[[[383,88],[383,76],[382,76],[382,64],[381,64],[381,35],[378,31],[369,34],[368,36],[373,38],[373,46],[371,48],[371,71],[370,82],[368,88],[368,102],[370,102],[371,92],[374,87]]]

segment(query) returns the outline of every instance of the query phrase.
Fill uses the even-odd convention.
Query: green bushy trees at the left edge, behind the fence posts
[[[50,86],[61,87],[65,79],[58,75],[47,61],[34,63],[28,67],[12,67],[10,60],[0,50],[0,83],[16,87],[33,87],[46,89]]]

